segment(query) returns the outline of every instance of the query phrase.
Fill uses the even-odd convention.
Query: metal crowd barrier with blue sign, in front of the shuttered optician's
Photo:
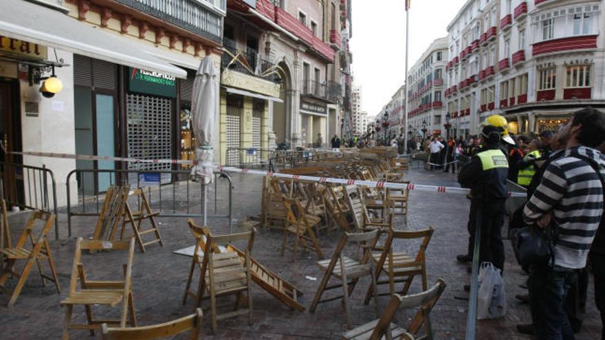
[[[72,195],[69,194],[72,176],[76,174],[78,178],[78,190],[76,205],[72,206]],[[105,170],[105,169],[76,169],[69,172],[67,175],[67,230],[72,236],[72,218],[74,216],[99,216],[102,208],[102,200],[104,199],[104,189],[98,190],[96,185],[94,188],[86,187],[86,177],[89,179],[99,178],[100,175],[109,179],[109,185],[126,185],[129,184],[133,188],[142,188],[140,174],[159,174],[161,179],[170,178],[169,183],[164,183],[158,187],[146,187],[146,196],[149,205],[152,209],[159,210],[159,217],[197,217],[203,218],[203,197],[204,184],[203,181],[192,181],[189,178],[189,170]],[[135,175],[135,176],[133,176]],[[179,178],[186,178],[184,181],[177,181]],[[218,214],[219,207],[219,180],[227,181],[228,184],[228,209],[223,214]],[[178,190],[177,190],[178,188]],[[177,192],[182,193],[184,197],[177,197]],[[168,193],[166,194],[166,191]],[[164,194],[163,194],[164,192]],[[214,214],[208,214],[208,218],[228,218],[229,229],[232,223],[232,193],[233,185],[231,177],[225,172],[214,172]],[[168,196],[168,197],[166,197]],[[196,196],[195,199],[193,196]],[[199,201],[197,200],[199,196]],[[192,209],[199,203],[199,211]],[[208,201],[206,203],[206,212],[208,212]]]

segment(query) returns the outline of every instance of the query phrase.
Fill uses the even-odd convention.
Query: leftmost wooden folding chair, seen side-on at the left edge
[[[38,265],[43,286],[46,286],[46,280],[50,280],[54,282],[57,294],[61,293],[61,287],[59,286],[59,280],[56,274],[47,239],[48,231],[50,231],[50,228],[54,223],[54,219],[54,214],[34,210],[34,212],[32,212],[30,215],[28,222],[25,223],[25,229],[23,229],[21,237],[19,238],[19,241],[17,241],[17,245],[15,245],[13,248],[8,247],[0,249],[0,254],[6,259],[6,265],[2,270],[2,275],[0,276],[0,286],[4,287],[4,284],[6,280],[8,280],[9,276],[19,278],[19,281],[17,281],[17,286],[14,287],[14,290],[10,295],[10,299],[8,300],[9,307],[17,301],[17,298],[21,293],[21,289],[23,289],[23,285],[25,285],[25,281],[28,280],[28,276],[30,275],[34,262],[36,262]],[[43,221],[44,226],[36,238],[34,238],[34,223],[36,223],[36,220]],[[30,240],[32,246],[31,249],[25,247],[25,243],[28,242],[28,239]],[[23,267],[21,273],[17,273],[17,271],[14,269],[14,265],[19,260],[23,260],[23,262],[25,262],[25,266]],[[50,267],[52,277],[43,272],[41,260],[48,261],[48,266]]]

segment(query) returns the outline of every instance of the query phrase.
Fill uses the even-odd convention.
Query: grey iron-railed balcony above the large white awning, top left
[[[195,33],[215,43],[221,43],[226,0],[220,8],[210,0],[115,0],[135,10]]]

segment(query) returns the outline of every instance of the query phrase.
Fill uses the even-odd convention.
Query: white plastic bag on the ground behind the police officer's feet
[[[477,319],[497,319],[506,314],[506,291],[500,269],[483,262],[479,269]]]

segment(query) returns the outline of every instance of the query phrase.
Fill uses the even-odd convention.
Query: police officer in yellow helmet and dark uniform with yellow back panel
[[[508,160],[503,142],[514,144],[508,135],[507,121],[500,115],[491,115],[481,124],[482,147],[470,163],[460,170],[458,181],[470,188],[471,206],[469,254],[474,247],[475,227],[481,225],[479,263],[492,262],[504,269],[504,245],[501,229],[508,198],[506,180]]]

